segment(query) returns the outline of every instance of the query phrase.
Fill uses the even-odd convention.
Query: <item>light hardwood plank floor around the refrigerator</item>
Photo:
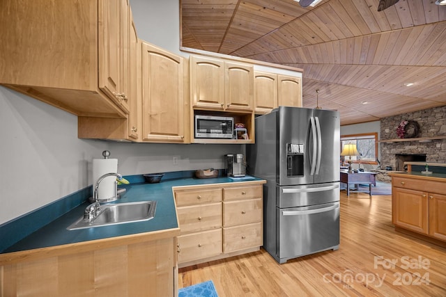
[[[224,296],[446,296],[446,248],[394,231],[392,196],[341,191],[339,250],[277,264],[265,250],[180,269]],[[393,262],[393,264],[392,264]]]

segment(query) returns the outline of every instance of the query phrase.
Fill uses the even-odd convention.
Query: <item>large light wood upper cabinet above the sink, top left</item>
[[[0,83],[75,115],[125,118],[128,9],[127,0],[1,1]]]

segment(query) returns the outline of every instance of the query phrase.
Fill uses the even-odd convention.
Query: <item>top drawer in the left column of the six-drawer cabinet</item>
[[[222,201],[222,188],[210,190],[187,190],[175,191],[176,206],[196,205],[210,202]]]

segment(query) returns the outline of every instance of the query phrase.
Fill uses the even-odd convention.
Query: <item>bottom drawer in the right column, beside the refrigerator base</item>
[[[235,252],[263,245],[262,224],[223,228],[223,252]]]

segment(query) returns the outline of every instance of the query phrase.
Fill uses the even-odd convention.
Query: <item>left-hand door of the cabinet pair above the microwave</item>
[[[190,56],[192,106],[224,108],[224,62],[215,58]]]

